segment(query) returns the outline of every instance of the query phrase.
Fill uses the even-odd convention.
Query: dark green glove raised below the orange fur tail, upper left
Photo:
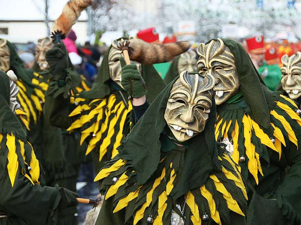
[[[68,54],[63,43],[57,43],[45,54],[50,70],[55,80],[66,78],[68,68]]]

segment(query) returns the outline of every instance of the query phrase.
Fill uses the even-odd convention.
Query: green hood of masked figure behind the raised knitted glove
[[[117,39],[120,40],[121,38]],[[129,38],[123,38],[128,40]],[[80,93],[80,97],[85,99],[99,99],[104,98],[110,94],[110,82],[113,82],[110,78],[110,70],[108,63],[108,56],[112,45],[104,53],[103,61],[98,70],[97,78],[89,91]],[[143,77],[147,87],[147,100],[152,102],[157,94],[166,86],[156,69],[151,65],[141,65],[141,76]]]

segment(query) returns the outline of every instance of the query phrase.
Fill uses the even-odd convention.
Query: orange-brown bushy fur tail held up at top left
[[[62,35],[67,35],[71,27],[76,22],[80,13],[89,5],[93,4],[93,0],[70,0],[64,6],[62,14],[54,21],[52,25],[53,32],[61,32]]]

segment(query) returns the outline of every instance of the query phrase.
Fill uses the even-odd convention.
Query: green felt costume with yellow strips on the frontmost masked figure
[[[97,225],[147,224],[149,215],[153,224],[169,225],[172,210],[182,215],[175,205],[183,207],[185,197],[185,224],[245,224],[247,193],[236,165],[215,142],[214,99],[204,131],[183,147],[164,134],[174,82],[151,103],[124,138],[119,154],[96,176],[105,196]],[[113,178],[118,178],[115,184]]]

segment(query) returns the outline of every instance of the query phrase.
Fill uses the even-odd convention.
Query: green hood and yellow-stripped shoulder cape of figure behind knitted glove
[[[93,149],[99,151],[99,161],[112,158],[117,154],[117,147],[123,138],[124,124],[130,117],[132,104],[128,101],[128,94],[115,83],[115,88],[110,87],[110,72],[108,66],[108,53],[104,54],[98,77],[90,91],[80,93],[75,99],[78,105],[69,117],[74,122],[68,131],[79,129],[81,141],[87,141],[86,154]],[[160,75],[153,66],[142,65],[142,77],[147,87],[147,100],[152,102],[165,87]]]

